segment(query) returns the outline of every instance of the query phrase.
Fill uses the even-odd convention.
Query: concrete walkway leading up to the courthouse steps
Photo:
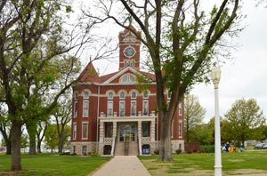
[[[93,172],[93,176],[150,176],[150,172],[143,166],[136,156],[115,156],[100,170]]]

